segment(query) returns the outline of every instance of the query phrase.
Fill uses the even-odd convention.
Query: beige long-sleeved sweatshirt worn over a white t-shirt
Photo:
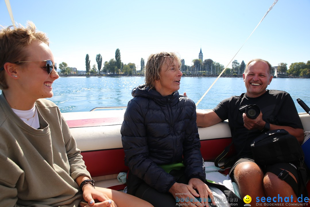
[[[24,123],[0,95],[0,206],[76,206],[78,176],[90,178],[59,108],[36,101],[40,129]]]

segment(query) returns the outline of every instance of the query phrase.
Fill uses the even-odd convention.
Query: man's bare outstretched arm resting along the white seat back
[[[210,127],[222,121],[219,116],[213,110],[196,109],[197,113],[197,126],[198,127]]]

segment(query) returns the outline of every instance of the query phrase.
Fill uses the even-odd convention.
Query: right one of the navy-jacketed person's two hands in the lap
[[[201,199],[201,204],[203,206],[208,206],[208,195],[210,196],[212,203],[215,205],[214,197],[212,195],[211,190],[200,179],[192,178],[189,180],[188,185],[194,189],[197,189],[197,191],[199,193],[199,197]]]

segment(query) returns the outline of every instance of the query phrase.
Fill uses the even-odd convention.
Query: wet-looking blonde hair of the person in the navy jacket
[[[167,61],[168,60],[168,61]],[[180,58],[173,52],[158,52],[152,54],[148,57],[148,61],[145,65],[145,84],[150,89],[155,87],[155,81],[160,80],[160,70],[162,68],[163,63],[167,63],[168,66],[174,63],[174,61],[179,63],[179,67],[181,66]]]

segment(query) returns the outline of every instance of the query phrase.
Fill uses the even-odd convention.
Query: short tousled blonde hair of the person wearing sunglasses
[[[45,33],[36,31],[36,26],[31,21],[27,22],[26,28],[23,25],[1,27],[3,29],[0,30],[0,89],[3,90],[8,88],[5,71],[1,70],[4,63],[25,61],[27,46],[32,41],[38,40],[49,45],[49,40]]]

